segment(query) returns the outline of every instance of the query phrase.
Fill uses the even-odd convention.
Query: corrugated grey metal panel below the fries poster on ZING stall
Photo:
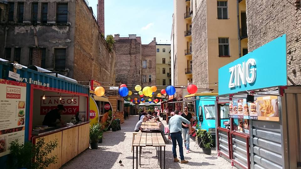
[[[283,168],[280,123],[252,120],[251,168]],[[252,143],[251,142],[251,143]],[[252,156],[252,154],[251,154]]]

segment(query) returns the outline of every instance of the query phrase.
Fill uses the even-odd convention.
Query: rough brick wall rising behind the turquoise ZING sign
[[[246,0],[248,49],[252,51],[287,35],[288,77],[301,85],[301,10],[299,0]],[[289,83],[290,84],[290,83]]]

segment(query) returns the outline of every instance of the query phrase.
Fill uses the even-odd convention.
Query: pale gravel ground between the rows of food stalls
[[[87,149],[80,155],[67,162],[63,169],[74,168],[132,168],[133,166],[133,153],[131,152],[131,144],[133,137],[133,130],[135,128],[138,116],[130,116],[121,124],[121,130],[112,132],[106,131],[103,133],[103,143],[98,144],[98,150]],[[165,120],[162,121],[166,125]],[[166,125],[168,126],[168,125]],[[217,156],[217,151],[212,151],[211,155],[202,153],[202,149],[195,145],[195,142],[190,140],[190,153],[186,154],[184,150],[184,158],[188,160],[187,164],[180,164],[173,162],[172,156],[172,142],[166,145],[165,162],[166,168],[233,168],[230,162],[222,157]],[[162,151],[163,153],[163,151]],[[135,152],[136,156],[136,152]],[[163,155],[162,155],[163,156]],[[179,158],[179,148],[177,146],[177,156]],[[122,165],[119,165],[119,160]],[[163,158],[162,158],[163,160]],[[135,161],[136,162],[136,161]],[[146,147],[142,149],[141,155],[141,168],[160,168],[157,165],[156,149]],[[162,163],[163,164],[163,163]],[[135,165],[136,166],[136,165]],[[140,167],[140,166],[139,166]],[[234,167],[235,168],[235,167]]]

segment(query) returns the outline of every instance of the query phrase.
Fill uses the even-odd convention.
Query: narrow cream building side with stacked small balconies
[[[172,85],[193,83],[192,10],[190,0],[174,0],[171,55]]]

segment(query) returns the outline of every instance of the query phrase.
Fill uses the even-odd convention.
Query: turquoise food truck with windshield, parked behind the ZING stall
[[[207,130],[215,137],[215,98],[218,93],[196,93],[184,97],[184,105],[196,116],[199,128]],[[221,126],[229,124],[229,105],[220,106]]]

